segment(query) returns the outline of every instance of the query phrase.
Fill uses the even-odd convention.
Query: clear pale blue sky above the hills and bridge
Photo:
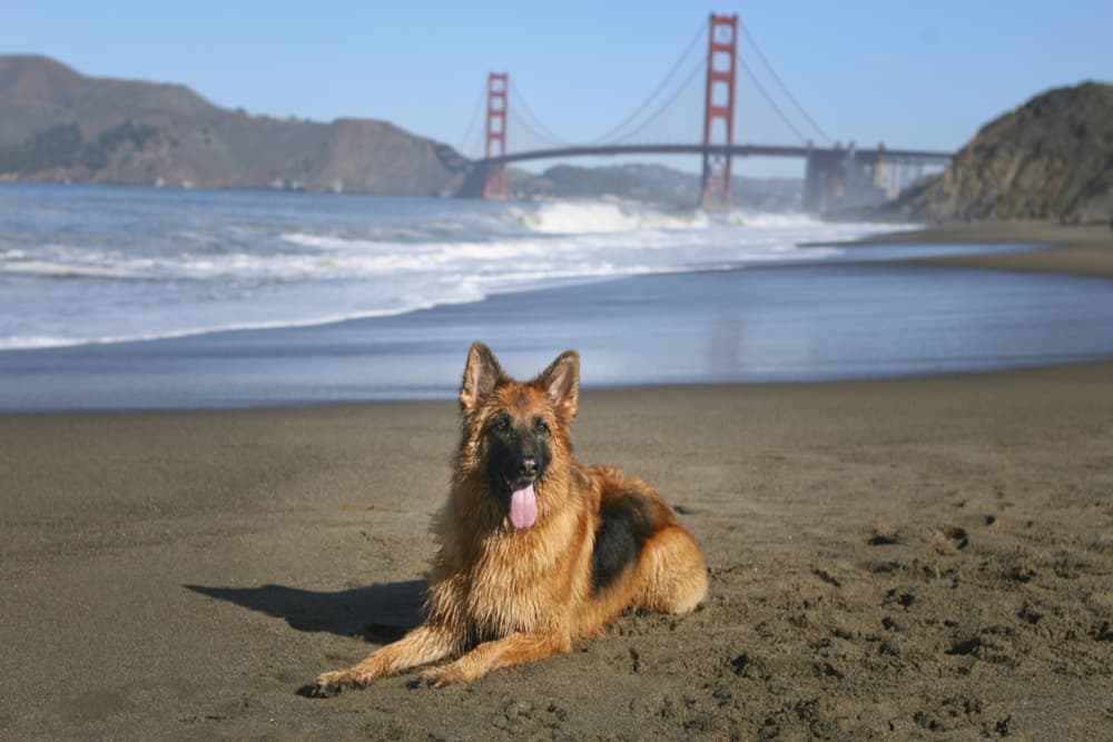
[[[1113,80],[1110,0],[0,0],[0,52],[181,82],[252,113],[386,119],[453,146],[464,144],[486,73],[509,71],[538,118],[582,141],[637,108],[712,11],[741,17],[795,97],[840,140],[957,149],[1037,92]],[[767,122],[754,137],[795,141],[751,89],[740,87],[738,107],[748,122]],[[686,126],[678,119],[661,137],[696,140],[698,123],[690,137]]]

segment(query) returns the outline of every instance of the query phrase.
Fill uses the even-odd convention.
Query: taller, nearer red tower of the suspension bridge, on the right
[[[738,16],[711,13],[707,43],[707,97],[703,109],[703,147],[735,144],[735,62],[738,56]],[[730,150],[703,150],[701,205],[730,206]]]

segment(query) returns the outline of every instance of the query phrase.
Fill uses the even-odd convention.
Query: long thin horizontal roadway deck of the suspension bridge
[[[810,155],[820,157],[846,157],[850,152],[864,161],[919,160],[920,162],[938,162],[945,165],[954,157],[953,152],[937,152],[922,149],[847,149],[836,147],[794,147],[781,145],[601,145],[556,147],[552,149],[532,149],[524,152],[512,152],[486,159],[475,160],[476,165],[498,167],[523,160],[546,160],[561,157],[590,157],[608,155],[703,155],[716,156],[729,154],[731,157],[799,157],[807,159]]]

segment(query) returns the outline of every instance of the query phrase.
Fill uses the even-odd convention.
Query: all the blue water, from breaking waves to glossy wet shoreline
[[[1113,281],[798,247],[792,215],[0,186],[0,412],[451,398],[481,339],[587,387],[1113,358]]]

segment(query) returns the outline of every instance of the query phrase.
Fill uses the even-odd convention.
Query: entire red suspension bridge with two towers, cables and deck
[[[739,31],[749,41],[756,59],[765,67],[796,111],[807,122],[807,127],[797,126],[776,98],[761,85],[757,75],[738,53]],[[698,65],[671,97],[660,101],[652,113],[644,116],[650,106],[666,90],[666,85],[689,61],[697,42],[706,33],[707,55],[700,57]],[[649,123],[672,105],[680,90],[697,79],[703,77],[703,122],[701,137],[696,142],[639,142],[623,141],[633,133],[643,131]],[[736,82],[739,72],[754,85],[757,92],[772,108],[785,128],[798,140],[787,145],[762,145],[735,141]],[[729,206],[733,199],[732,160],[736,157],[775,157],[796,158],[805,161],[804,208],[808,211],[824,212],[835,206],[854,205],[848,196],[864,188],[899,188],[904,171],[920,172],[924,167],[946,165],[953,157],[952,152],[922,149],[888,148],[878,145],[874,148],[858,147],[854,142],[843,146],[835,142],[816,120],[804,109],[796,97],[789,91],[772,66],[761,52],[754,37],[739,21],[738,16],[720,16],[712,13],[706,29],[689,44],[680,60],[651,96],[639,106],[624,121],[607,133],[589,144],[571,144],[553,135],[538,119],[524,99],[519,96],[523,112],[520,123],[536,139],[546,142],[544,147],[510,151],[508,149],[508,119],[510,117],[510,99],[513,90],[508,72],[491,72],[485,88],[485,128],[483,133],[483,157],[474,160],[472,177],[465,186],[465,192],[484,198],[506,197],[506,166],[513,162],[530,160],[559,159],[571,157],[623,156],[623,155],[697,155],[702,159],[700,204],[705,208]],[[532,125],[531,125],[532,122]],[[824,144],[816,144],[816,138],[809,138],[802,128],[810,128]],[[624,133],[623,133],[624,132]],[[618,135],[622,135],[621,137]]]

